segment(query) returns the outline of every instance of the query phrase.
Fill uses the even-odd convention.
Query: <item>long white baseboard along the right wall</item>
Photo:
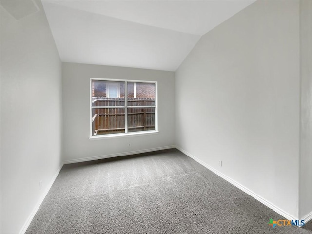
[[[183,150],[182,148],[176,146],[176,149],[178,149],[179,151],[181,151],[183,154],[193,158],[196,162],[200,163],[201,165],[203,165],[204,167],[206,167],[207,169],[209,169],[210,171],[212,171],[213,173],[215,173],[216,175],[222,177],[223,179],[225,179],[226,181],[230,182],[231,184],[233,184],[234,186],[236,186],[237,188],[239,188],[240,190],[244,191],[246,194],[254,197],[254,199],[258,200],[259,202],[261,202],[262,204],[264,204],[265,206],[269,207],[270,209],[272,209],[273,211],[275,211],[276,213],[282,215],[283,217],[285,217],[288,220],[297,220],[297,217],[293,217],[292,215],[288,214],[287,212],[283,211],[282,209],[280,209],[279,207],[275,206],[274,204],[272,204],[270,201],[264,199],[263,197],[261,197],[260,195],[257,195],[256,193],[254,193],[253,191],[249,190],[248,188],[246,188],[245,186],[241,185],[240,183],[234,181],[233,179],[231,179],[230,177],[222,174],[221,172],[215,170],[215,168],[209,166],[208,164],[206,164],[205,162],[203,162],[202,160],[198,159],[197,157],[191,155],[190,153],[188,153],[187,151]],[[312,214],[309,214],[310,216]]]

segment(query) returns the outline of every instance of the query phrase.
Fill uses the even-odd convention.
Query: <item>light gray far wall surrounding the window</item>
[[[175,144],[174,72],[78,63],[63,63],[62,67],[65,163]],[[159,133],[90,140],[90,78],[157,81]]]

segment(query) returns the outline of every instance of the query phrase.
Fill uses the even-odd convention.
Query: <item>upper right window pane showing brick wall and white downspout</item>
[[[128,106],[154,106],[155,83],[128,82]]]

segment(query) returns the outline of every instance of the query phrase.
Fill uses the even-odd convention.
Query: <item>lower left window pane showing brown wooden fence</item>
[[[92,109],[92,135],[124,133],[125,109],[101,108]]]

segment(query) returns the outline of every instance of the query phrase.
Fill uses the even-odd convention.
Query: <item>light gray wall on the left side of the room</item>
[[[1,233],[24,229],[62,165],[61,61],[36,4],[19,20],[1,6]]]

